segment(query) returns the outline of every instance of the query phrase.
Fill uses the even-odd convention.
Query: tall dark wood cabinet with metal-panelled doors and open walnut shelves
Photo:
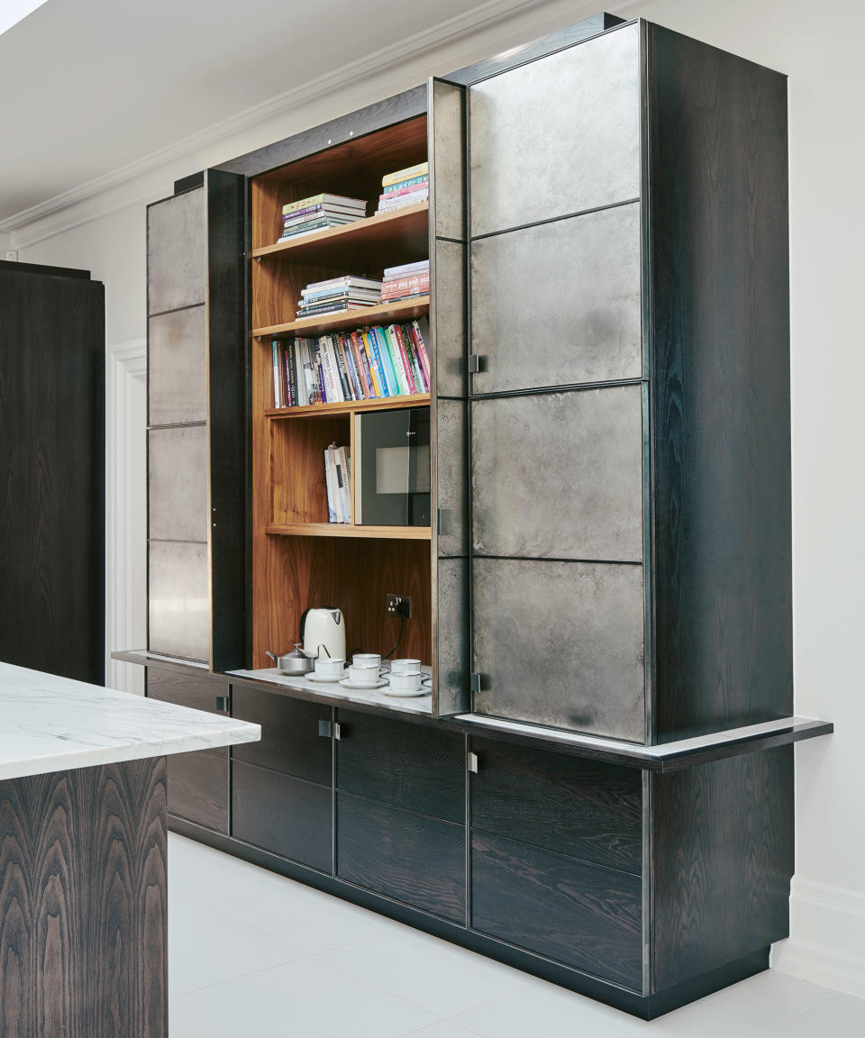
[[[647,1018],[766,968],[792,743],[832,731],[792,715],[786,111],[780,74],[599,15],[151,208],[123,658],[263,729],[181,765],[174,828]],[[286,203],[425,161],[428,203],[279,240]],[[275,406],[280,343],[364,323],[299,316],[308,281],[427,256],[367,323],[428,316],[429,393]],[[329,523],[322,449],[395,408],[429,411],[430,525]],[[267,670],[307,606],[386,652],[388,592],[431,696]]]

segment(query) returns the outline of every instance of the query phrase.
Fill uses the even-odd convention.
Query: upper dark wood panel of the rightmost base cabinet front
[[[642,872],[642,778],[636,768],[474,739],[471,826]]]

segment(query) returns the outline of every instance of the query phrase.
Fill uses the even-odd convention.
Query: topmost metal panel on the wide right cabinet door
[[[471,235],[640,195],[640,27],[470,87]]]

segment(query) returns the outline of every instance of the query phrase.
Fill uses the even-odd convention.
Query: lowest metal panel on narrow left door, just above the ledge
[[[207,545],[152,541],[148,551],[147,648],[209,661]]]

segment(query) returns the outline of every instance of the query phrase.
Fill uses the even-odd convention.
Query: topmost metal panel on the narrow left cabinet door
[[[147,313],[204,303],[205,189],[166,198],[147,209]]]

